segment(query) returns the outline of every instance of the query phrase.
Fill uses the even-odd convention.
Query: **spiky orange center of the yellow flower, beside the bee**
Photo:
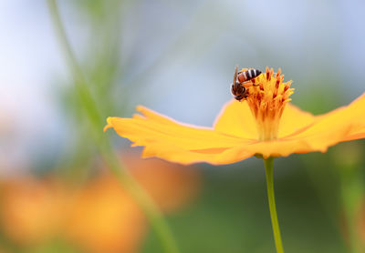
[[[255,117],[261,141],[277,138],[280,118],[287,102],[291,100],[289,96],[294,93],[294,88],[290,88],[292,81],[283,83],[284,75],[280,76],[280,73],[280,68],[274,73],[272,68],[269,70],[266,67],[265,73],[252,80],[258,86],[248,87],[246,101]]]

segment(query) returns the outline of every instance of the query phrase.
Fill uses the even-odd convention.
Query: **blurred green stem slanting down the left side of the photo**
[[[94,138],[99,152],[111,172],[117,177],[123,187],[130,193],[132,197],[138,202],[143,209],[146,217],[150,220],[151,227],[154,228],[157,236],[159,237],[164,252],[178,253],[179,250],[176,246],[176,242],[172,237],[172,232],[168,227],[166,220],[163,218],[162,212],[151,200],[151,197],[145,192],[145,190],[138,184],[134,177],[130,175],[121,164],[120,157],[113,150],[110,139],[102,132],[103,120],[99,114],[98,106],[96,105],[93,97],[90,94],[88,82],[82,73],[78,61],[72,48],[68,42],[68,36],[66,35],[64,26],[59,17],[57,1],[47,0],[49,12],[52,21],[55,25],[59,43],[64,50],[65,56],[72,76],[74,78],[76,92],[78,93],[85,114],[90,122],[90,134]]]

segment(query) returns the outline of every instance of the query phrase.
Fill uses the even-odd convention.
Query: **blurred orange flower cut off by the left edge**
[[[1,224],[7,237],[34,244],[56,235],[65,213],[65,192],[55,181],[13,178],[1,187]]]

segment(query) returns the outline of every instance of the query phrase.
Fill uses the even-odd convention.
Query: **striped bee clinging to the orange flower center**
[[[235,76],[234,76],[234,82],[231,86],[231,92],[235,96],[235,99],[241,101],[242,99],[245,99],[247,98],[247,96],[249,96],[247,87],[258,86],[255,85],[253,79],[259,76],[261,74],[261,71],[254,68],[241,72],[237,71],[238,71],[238,66],[235,66]]]

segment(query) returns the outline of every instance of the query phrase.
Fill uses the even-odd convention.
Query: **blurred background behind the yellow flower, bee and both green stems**
[[[137,105],[200,126],[231,99],[235,65],[282,68],[314,114],[364,92],[363,1],[59,1],[100,114]],[[100,159],[46,1],[0,2],[0,252],[162,252]],[[101,129],[100,129],[101,131]],[[114,147],[182,252],[275,252],[265,170],[139,158]],[[362,140],[276,159],[287,252],[365,252]]]

